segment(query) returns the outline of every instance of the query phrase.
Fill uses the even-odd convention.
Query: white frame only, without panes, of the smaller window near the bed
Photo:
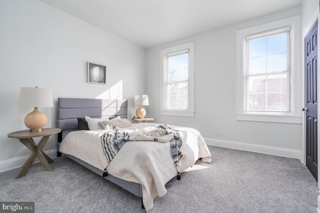
[[[188,66],[188,109],[174,110],[165,108],[166,98],[166,54],[172,52],[178,52],[183,49],[189,49],[189,66]],[[160,72],[161,72],[161,99],[160,99],[160,115],[171,115],[171,116],[186,116],[194,117],[194,41],[171,46],[168,48],[161,49],[160,51]]]

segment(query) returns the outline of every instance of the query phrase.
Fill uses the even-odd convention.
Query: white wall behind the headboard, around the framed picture
[[[86,82],[87,61],[106,65],[105,85]],[[133,96],[145,92],[143,47],[36,0],[0,0],[0,70],[0,171],[30,153],[7,137],[26,129],[24,116],[33,110],[18,107],[20,87],[52,89],[54,107],[39,108],[46,127],[56,126],[57,97],[128,99],[130,118]],[[56,138],[43,150],[55,149]]]

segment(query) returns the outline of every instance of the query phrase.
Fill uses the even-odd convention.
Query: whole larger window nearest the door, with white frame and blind
[[[237,31],[237,120],[301,123],[292,36],[300,16]]]

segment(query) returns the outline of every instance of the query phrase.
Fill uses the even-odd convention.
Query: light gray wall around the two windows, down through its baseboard
[[[147,116],[155,122],[198,129],[206,143],[226,147],[301,158],[302,125],[238,121],[236,113],[236,30],[298,15],[300,7],[254,20],[225,26],[205,33],[161,44],[146,50]],[[301,107],[301,42],[297,33],[298,54],[295,107]],[[160,49],[194,40],[194,117],[161,116]],[[221,134],[215,134],[220,129]]]

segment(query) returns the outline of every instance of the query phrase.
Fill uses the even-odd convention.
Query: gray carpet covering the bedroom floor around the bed
[[[151,212],[317,212],[317,182],[298,159],[208,146]],[[52,172],[34,163],[0,173],[0,201],[34,201],[35,212],[145,212],[141,199],[62,156]]]

